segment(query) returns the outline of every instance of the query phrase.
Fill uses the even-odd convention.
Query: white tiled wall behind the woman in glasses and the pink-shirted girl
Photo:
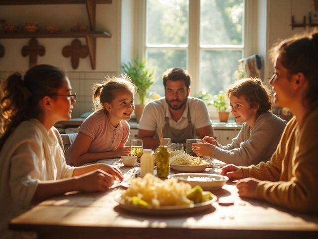
[[[86,112],[92,112],[92,86],[95,82],[102,82],[105,76],[116,75],[116,72],[68,72],[72,85],[72,92],[76,93],[76,104],[72,118],[79,118]],[[7,76],[7,72],[0,71],[0,79]]]

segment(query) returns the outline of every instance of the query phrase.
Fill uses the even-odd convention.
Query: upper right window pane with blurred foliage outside
[[[201,0],[200,45],[242,45],[244,0]]]

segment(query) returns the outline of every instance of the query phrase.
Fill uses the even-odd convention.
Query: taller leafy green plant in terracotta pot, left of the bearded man
[[[142,60],[139,55],[136,56],[133,63],[122,64],[123,72],[126,73],[133,83],[137,86],[140,105],[135,105],[135,116],[137,122],[143,113],[145,100],[148,96],[149,88],[156,83],[155,70],[146,66],[146,59]]]

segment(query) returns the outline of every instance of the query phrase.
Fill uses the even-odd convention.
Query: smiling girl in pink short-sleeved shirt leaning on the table
[[[79,134],[66,151],[68,164],[80,166],[130,153],[130,146],[124,147],[130,133],[126,120],[134,112],[135,93],[136,86],[125,75],[94,85],[95,112],[82,122]]]

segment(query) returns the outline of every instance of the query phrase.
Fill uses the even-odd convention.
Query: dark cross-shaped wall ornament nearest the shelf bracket
[[[86,58],[88,56],[88,47],[82,46],[81,42],[78,39],[72,41],[71,46],[65,46],[62,50],[64,57],[71,56],[71,63],[73,69],[79,67],[79,57]]]

